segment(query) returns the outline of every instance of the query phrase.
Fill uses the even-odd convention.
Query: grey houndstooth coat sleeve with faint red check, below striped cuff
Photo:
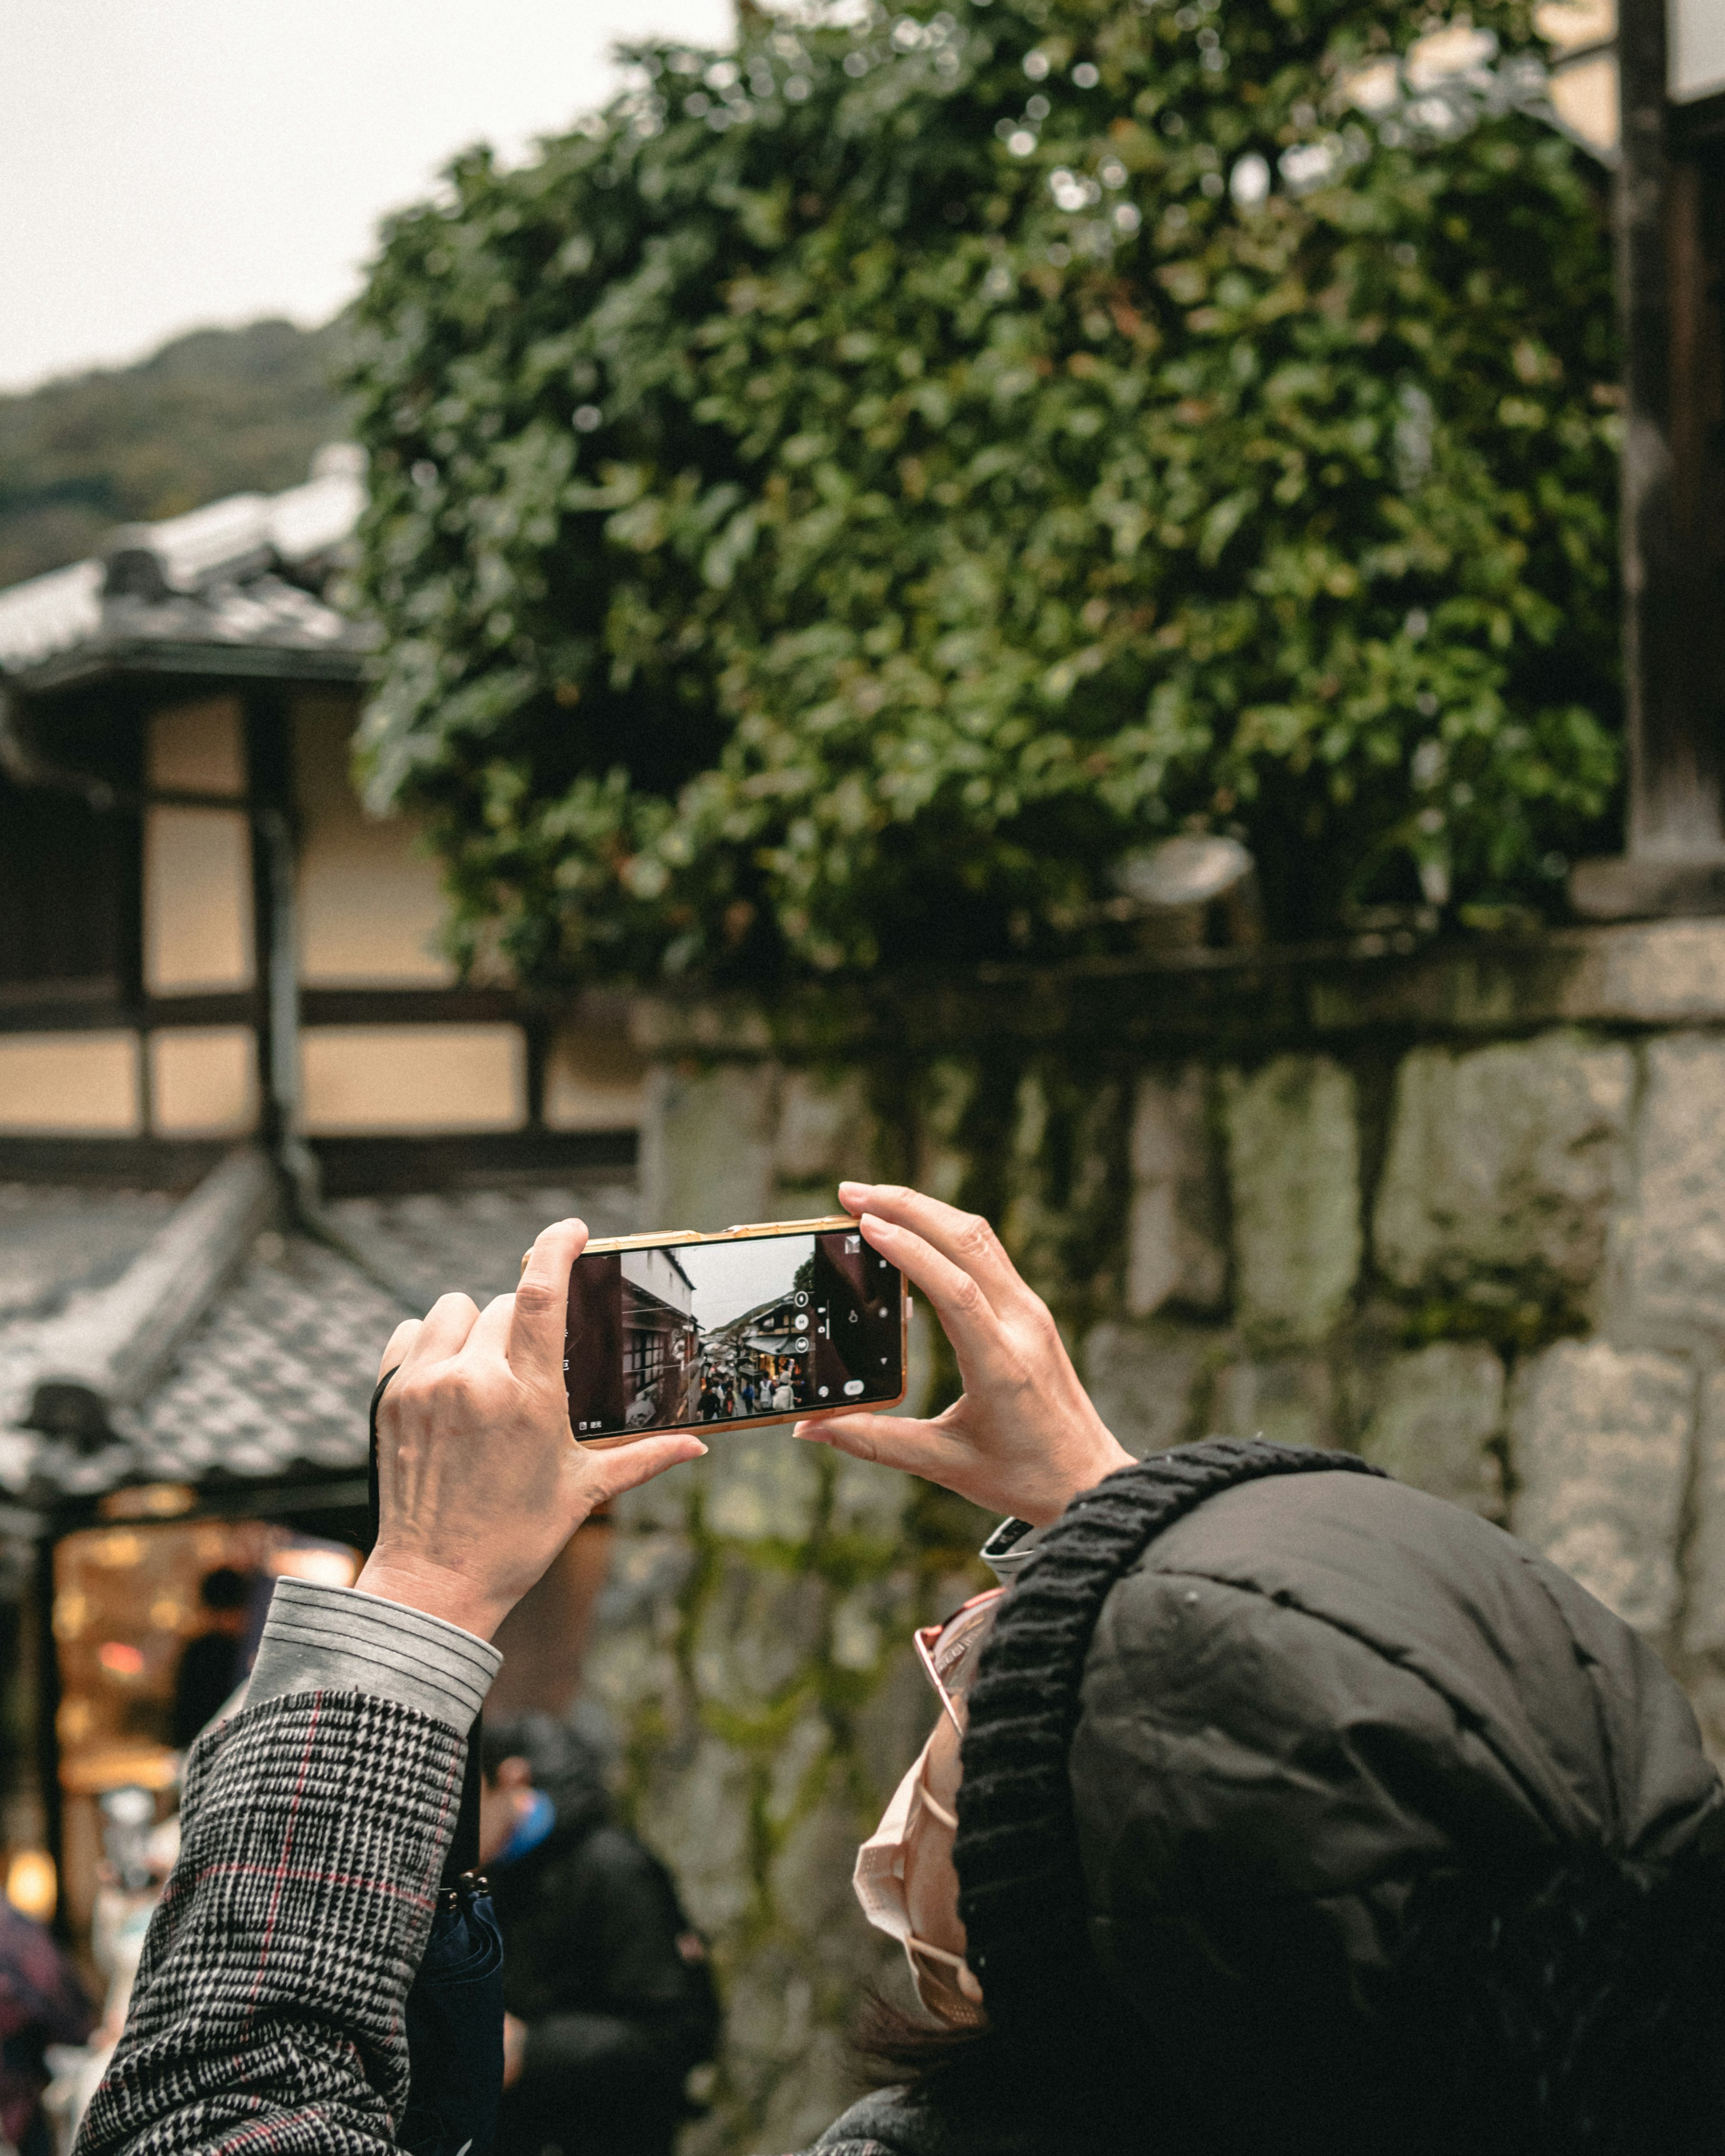
[[[75,2156],[395,2147],[401,2007],[464,1751],[362,1692],[270,1699],[198,1738],[179,1863]]]

